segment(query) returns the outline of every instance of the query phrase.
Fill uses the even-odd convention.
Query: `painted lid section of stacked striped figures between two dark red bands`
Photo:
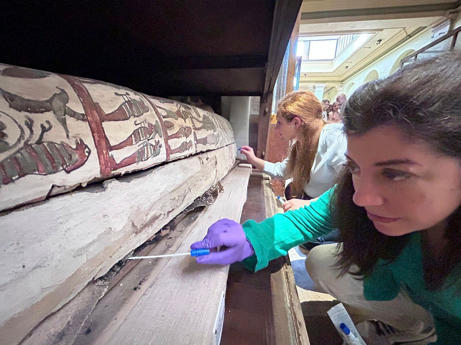
[[[120,90],[110,83],[65,78],[71,79],[70,84],[77,93],[80,92],[83,104],[87,103],[84,114],[74,112],[70,116],[89,121],[90,127],[93,125],[93,137],[105,139],[95,142],[102,175],[141,162],[147,163],[148,167],[165,161],[165,156],[160,155],[163,133],[159,119],[142,94],[127,88]],[[92,113],[97,116],[91,116]]]

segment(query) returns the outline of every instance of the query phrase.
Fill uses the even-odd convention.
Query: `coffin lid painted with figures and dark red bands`
[[[204,109],[0,64],[0,210],[232,143]]]

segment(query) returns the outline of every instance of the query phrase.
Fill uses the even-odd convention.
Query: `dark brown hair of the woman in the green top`
[[[348,137],[372,128],[396,125],[412,142],[425,142],[436,152],[461,161],[461,54],[450,52],[411,63],[393,75],[357,89],[344,107],[342,119]],[[345,172],[331,205],[339,223],[343,273],[355,264],[357,276],[372,273],[379,259],[392,262],[408,243],[408,235],[392,237],[376,230],[364,207],[352,201],[352,175]],[[430,289],[440,288],[461,263],[461,211],[448,219],[449,248],[436,274],[426,274]],[[434,273],[434,272],[432,272]]]

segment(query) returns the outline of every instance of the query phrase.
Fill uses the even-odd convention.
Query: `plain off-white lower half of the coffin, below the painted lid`
[[[216,184],[235,144],[1,217],[0,343],[15,345]]]

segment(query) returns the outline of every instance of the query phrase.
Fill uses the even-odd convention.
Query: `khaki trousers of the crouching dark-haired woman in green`
[[[391,301],[367,301],[363,296],[362,280],[347,273],[338,277],[340,271],[334,267],[335,253],[337,244],[314,247],[307,255],[306,270],[320,289],[344,304],[355,323],[378,320],[410,334],[433,328],[431,314],[402,290]],[[354,267],[351,270],[354,271]]]

